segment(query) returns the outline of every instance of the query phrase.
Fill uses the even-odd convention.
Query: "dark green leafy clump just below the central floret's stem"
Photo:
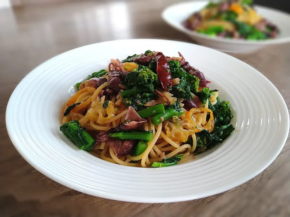
[[[133,94],[123,98],[123,103],[127,107],[132,106],[135,110],[143,110],[145,108],[145,103],[155,98],[156,93]]]

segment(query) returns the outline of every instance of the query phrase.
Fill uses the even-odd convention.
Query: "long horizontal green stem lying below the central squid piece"
[[[153,140],[153,131],[141,131],[141,132],[118,132],[118,133],[111,133],[109,137],[117,138],[119,140],[144,140],[144,141],[151,141]]]

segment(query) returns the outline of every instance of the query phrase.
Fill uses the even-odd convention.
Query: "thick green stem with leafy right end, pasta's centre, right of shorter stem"
[[[168,118],[172,118],[173,116],[180,116],[183,114],[183,110],[180,107],[180,103],[176,101],[174,105],[169,106],[164,112],[161,112],[159,115],[156,115],[151,119],[152,124],[155,126],[160,124],[161,122],[167,120]]]

